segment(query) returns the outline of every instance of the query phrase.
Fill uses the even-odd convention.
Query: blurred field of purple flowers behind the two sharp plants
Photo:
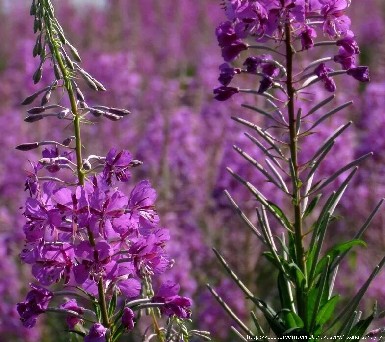
[[[348,120],[353,125],[337,140],[322,176],[331,175],[364,153],[374,152],[374,158],[360,167],[341,201],[338,215],[344,219],[333,223],[328,237],[332,242],[336,236],[352,238],[355,229],[385,196],[385,3],[354,2],[349,16],[361,49],[359,64],[370,67],[372,81],[358,84],[344,79],[339,83],[336,78],[338,101],[353,98],[354,105],[325,120],[321,134],[307,139],[309,155],[300,154],[302,162],[308,160],[310,153]],[[243,293],[220,268],[212,247],[221,251],[254,293],[272,302],[277,300],[277,293],[271,291],[275,284],[268,277],[271,266],[261,257],[263,246],[242,228],[223,193],[227,189],[256,220],[255,201],[231,178],[226,167],[251,180],[263,193],[273,191],[271,184],[233,149],[235,144],[264,163],[262,153],[231,116],[259,120],[261,126],[271,123],[240,106],[241,102],[257,105],[251,95],[239,94],[226,105],[214,100],[212,89],[218,84],[218,66],[223,62],[214,34],[218,23],[225,20],[220,1],[110,0],[79,5],[56,0],[55,4],[67,35],[77,42],[84,68],[108,90],[87,93],[88,103],[119,103],[131,111],[118,124],[100,119],[86,127],[86,149],[105,155],[114,146],[129,150],[134,159],[143,162],[132,177],[136,181],[151,180],[158,193],[161,227],[168,228],[172,236],[168,249],[176,263],[165,276],[180,283],[183,296],[193,298],[196,328],[211,331],[214,341],[233,341],[231,321],[207,291],[206,283],[231,303],[239,317],[248,319],[250,309]],[[23,170],[29,167],[26,157],[40,158],[34,151],[21,153],[15,146],[66,136],[64,126],[49,119],[21,124],[26,113],[20,102],[36,91],[31,77],[38,65],[31,56],[35,39],[28,12],[29,1],[0,3],[0,341],[64,342],[68,341],[65,335],[52,335],[52,329],[57,330],[61,321],[54,316],[39,318],[33,329],[26,330],[15,306],[28,291],[30,279],[28,267],[18,257],[24,242],[23,210],[19,209],[25,199]],[[327,55],[328,47],[324,52]],[[51,78],[49,72],[43,73],[43,80]],[[248,86],[256,88],[258,85],[252,82],[250,78]],[[311,91],[309,97],[314,100],[325,96],[322,85]],[[47,132],[49,137],[45,136]],[[275,199],[283,207],[285,201],[283,197]],[[354,293],[371,273],[373,259],[384,254],[384,220],[382,210],[366,233],[368,248],[357,249],[341,264],[337,287],[344,293]],[[274,232],[279,233],[278,228]],[[385,309],[384,281],[382,272],[369,288],[362,310],[370,308],[375,298],[380,309]]]

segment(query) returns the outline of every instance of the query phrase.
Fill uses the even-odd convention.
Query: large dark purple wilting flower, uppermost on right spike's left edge
[[[238,58],[239,54],[247,50],[247,44],[243,43],[236,35],[231,22],[222,22],[215,30],[219,46],[222,48],[222,57],[226,62]]]

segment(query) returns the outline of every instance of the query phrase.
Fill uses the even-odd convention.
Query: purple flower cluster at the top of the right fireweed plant
[[[279,55],[281,40],[285,31],[285,23],[290,23],[295,29],[291,32],[293,41],[297,38],[303,50],[313,49],[317,29],[331,39],[330,44],[339,46],[339,51],[325,61],[334,61],[341,65],[342,70],[361,82],[369,81],[368,67],[356,66],[356,55],[360,53],[354,33],[349,30],[350,19],[345,15],[350,1],[347,0],[225,0],[224,7],[228,20],[220,23],[216,36],[226,62],[235,61],[244,50],[260,49],[263,46],[253,45],[250,40],[259,43],[276,42],[274,49]],[[243,40],[248,41],[244,42]],[[323,42],[320,45],[324,45]],[[329,44],[329,42],[326,42]],[[271,48],[270,48],[271,49]],[[262,76],[258,93],[270,88],[279,87],[280,64],[270,55],[249,56],[244,61],[246,67],[231,68],[228,64],[220,66],[219,81],[222,84],[214,88],[215,98],[219,101],[229,99],[235,93],[244,91],[238,87],[229,86],[235,74],[252,73]],[[261,67],[261,72],[257,72]],[[324,83],[327,91],[334,92],[336,85],[334,72],[325,63],[320,63],[314,69],[314,75]]]

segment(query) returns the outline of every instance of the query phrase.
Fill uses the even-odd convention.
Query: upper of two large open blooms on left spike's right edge
[[[138,223],[144,229],[156,227],[159,223],[159,216],[154,208],[156,191],[151,188],[148,180],[136,184],[129,196],[127,208],[131,210],[130,220]]]

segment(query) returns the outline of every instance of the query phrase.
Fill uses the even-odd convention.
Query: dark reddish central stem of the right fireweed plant
[[[286,43],[286,63],[287,63],[287,94],[288,94],[288,114],[289,114],[289,131],[290,131],[290,158],[294,167],[293,182],[297,184],[293,189],[294,199],[294,231],[295,231],[295,245],[296,245],[296,261],[297,265],[305,275],[306,279],[306,264],[305,264],[305,253],[304,253],[304,241],[302,236],[302,217],[301,217],[301,204],[300,204],[300,190],[299,190],[299,177],[298,177],[298,157],[297,157],[297,132],[296,132],[296,115],[294,108],[294,92],[293,87],[293,50],[291,46],[291,29],[290,23],[285,25],[285,43]],[[299,284],[298,284],[299,285]],[[299,286],[298,286],[299,287]],[[301,289],[297,287],[297,302],[298,312],[300,316],[305,317],[306,313],[304,307],[304,296]]]

